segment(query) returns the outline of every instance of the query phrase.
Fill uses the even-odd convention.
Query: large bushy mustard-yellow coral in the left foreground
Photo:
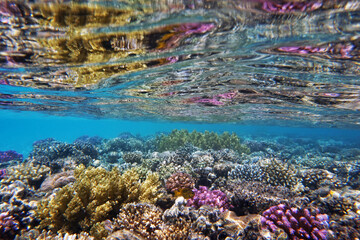
[[[40,228],[91,232],[101,221],[115,217],[123,204],[154,203],[160,197],[156,173],[149,173],[141,182],[135,169],[121,174],[117,168],[107,171],[80,166],[74,175],[73,185],[63,187],[54,198],[39,203]]]

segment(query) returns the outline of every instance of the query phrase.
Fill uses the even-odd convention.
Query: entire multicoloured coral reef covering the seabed
[[[95,140],[40,140],[5,163],[0,239],[360,238],[352,145],[186,130]]]

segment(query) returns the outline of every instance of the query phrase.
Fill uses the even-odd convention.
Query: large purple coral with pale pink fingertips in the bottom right
[[[265,210],[261,216],[263,228],[275,232],[283,229],[289,239],[327,239],[328,216],[320,214],[318,210],[310,212],[309,209],[299,209],[285,204],[272,206]]]

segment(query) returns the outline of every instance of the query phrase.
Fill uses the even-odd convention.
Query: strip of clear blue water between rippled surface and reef
[[[56,117],[40,113],[19,113],[3,111],[0,119],[0,151],[15,150],[24,156],[32,150],[32,143],[45,138],[72,143],[80,136],[115,138],[123,132],[149,136],[169,133],[173,129],[189,131],[235,132],[240,138],[246,137],[290,137],[319,140],[336,140],[359,144],[360,130],[346,128],[302,128],[271,125],[244,124],[199,124],[169,121],[125,121],[117,119],[86,119]]]

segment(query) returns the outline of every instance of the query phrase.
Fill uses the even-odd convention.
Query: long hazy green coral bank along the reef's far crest
[[[175,129],[169,135],[163,134],[156,139],[157,150],[160,152],[176,150],[188,143],[204,150],[229,148],[239,153],[250,152],[246,145],[240,143],[240,138],[235,133],[230,134],[229,132],[217,134],[209,131],[201,133],[194,130],[189,133],[187,130]]]

